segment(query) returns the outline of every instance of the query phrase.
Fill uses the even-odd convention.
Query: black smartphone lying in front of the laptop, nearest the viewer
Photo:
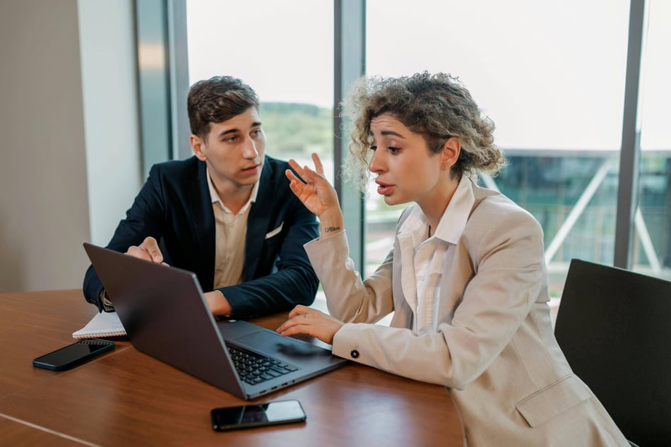
[[[298,400],[215,408],[211,415],[212,428],[217,431],[290,424],[305,420],[305,412]]]

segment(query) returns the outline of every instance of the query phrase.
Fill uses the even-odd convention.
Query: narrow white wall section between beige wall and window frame
[[[106,245],[141,186],[131,0],[79,0],[90,242]]]

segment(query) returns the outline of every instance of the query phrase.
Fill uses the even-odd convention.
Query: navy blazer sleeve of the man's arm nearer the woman
[[[314,214],[294,196],[290,196],[285,206],[283,230],[275,236],[283,237],[280,247],[276,252],[266,252],[260,261],[274,263],[272,270],[275,271],[218,289],[233,309],[231,318],[273,314],[288,311],[297,304],[309,306],[314,302],[319,280],[303,244],[319,235],[319,224]]]

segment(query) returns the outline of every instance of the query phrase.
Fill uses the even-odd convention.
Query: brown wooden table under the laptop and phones
[[[127,338],[69,371],[32,359],[73,342],[97,310],[81,290],[0,294],[0,445],[461,446],[444,387],[367,366],[335,371],[252,403],[298,399],[307,422],[216,432],[213,407],[244,400],[138,352]],[[285,315],[256,318],[277,327]]]

